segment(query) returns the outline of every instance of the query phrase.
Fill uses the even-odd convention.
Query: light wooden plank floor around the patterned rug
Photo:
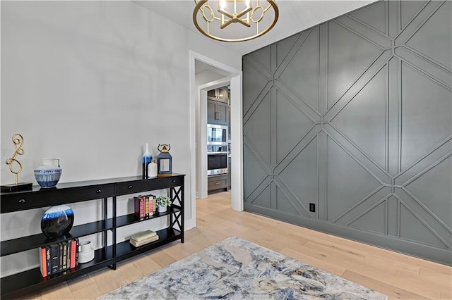
[[[116,271],[105,268],[30,299],[95,299],[231,236],[340,275],[389,299],[452,299],[452,268],[446,265],[232,211],[229,192],[198,199],[196,209],[196,228],[186,232],[184,244],[173,242],[119,263]]]

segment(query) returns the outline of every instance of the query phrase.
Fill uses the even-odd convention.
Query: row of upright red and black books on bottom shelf
[[[64,273],[78,266],[78,238],[40,247],[40,271],[42,277]]]

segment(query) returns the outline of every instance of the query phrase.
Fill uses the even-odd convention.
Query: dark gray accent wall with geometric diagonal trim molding
[[[245,210],[452,265],[451,12],[380,1],[243,56]]]

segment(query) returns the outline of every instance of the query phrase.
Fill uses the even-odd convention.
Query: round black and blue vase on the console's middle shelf
[[[41,230],[46,237],[66,235],[71,231],[72,225],[73,210],[67,205],[52,206],[42,215]]]

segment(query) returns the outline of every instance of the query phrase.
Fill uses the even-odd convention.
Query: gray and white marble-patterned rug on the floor
[[[388,299],[311,265],[230,237],[97,299]]]

